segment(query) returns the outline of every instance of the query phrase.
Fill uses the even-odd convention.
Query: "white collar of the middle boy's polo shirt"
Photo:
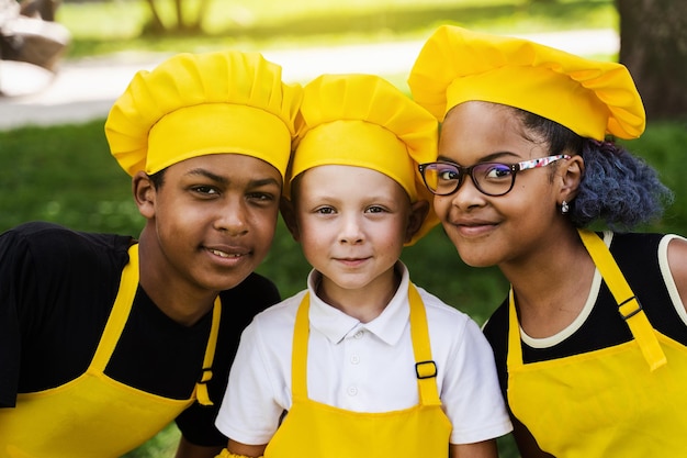
[[[408,284],[410,278],[406,266],[397,261],[396,270],[401,272],[401,284],[396,293],[382,313],[369,323],[361,323],[340,310],[325,303],[316,294],[322,273],[312,270],[307,277],[307,289],[311,293],[309,324],[323,333],[333,344],[339,344],[348,335],[364,329],[387,345],[395,345],[409,321]]]

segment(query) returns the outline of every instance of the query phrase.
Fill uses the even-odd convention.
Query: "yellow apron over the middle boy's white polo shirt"
[[[301,302],[293,336],[293,404],[267,449],[266,458],[446,458],[451,422],[441,410],[437,370],[431,360],[425,305],[413,284],[410,335],[418,376],[419,404],[407,410],[363,413],[307,398],[309,295]]]

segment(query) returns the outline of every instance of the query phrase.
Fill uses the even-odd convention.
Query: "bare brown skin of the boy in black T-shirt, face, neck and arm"
[[[134,198],[146,217],[140,286],[165,314],[193,325],[219,291],[258,267],[274,236],[281,187],[274,167],[238,154],[177,163],[157,189],[146,174],[136,174]],[[210,458],[221,450],[182,437],[176,458]]]

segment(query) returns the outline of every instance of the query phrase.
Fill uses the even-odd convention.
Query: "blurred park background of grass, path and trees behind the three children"
[[[643,228],[687,235],[684,0],[44,0],[24,2],[23,11],[18,5],[0,0],[0,231],[45,220],[138,234],[143,219],[128,176],[109,154],[103,123],[134,72],[171,54],[259,51],[284,67],[288,80],[369,71],[408,92],[416,53],[448,23],[626,64],[649,122],[641,138],[624,144],[675,191],[664,217]],[[22,49],[32,44],[43,52]],[[403,259],[417,284],[478,323],[506,297],[508,284],[498,270],[464,266],[440,227],[407,248]],[[280,222],[260,271],[288,297],[305,287],[308,270]],[[177,440],[170,425],[127,457],[172,457]],[[502,457],[518,456],[508,437],[499,447]]]

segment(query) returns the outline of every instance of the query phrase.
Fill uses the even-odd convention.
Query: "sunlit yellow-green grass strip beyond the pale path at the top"
[[[184,1],[194,16],[200,0]],[[162,22],[172,2],[158,0]],[[68,56],[120,51],[199,52],[423,40],[442,23],[498,33],[617,29],[612,0],[210,0],[203,34],[147,35],[145,0],[64,3],[58,20],[74,35]]]

